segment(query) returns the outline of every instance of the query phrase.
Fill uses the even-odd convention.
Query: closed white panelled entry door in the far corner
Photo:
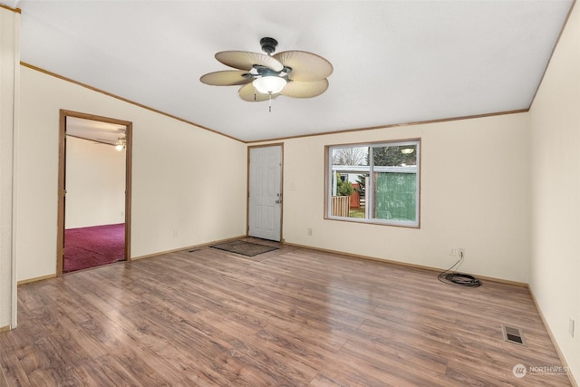
[[[280,241],[282,146],[250,148],[248,235]]]

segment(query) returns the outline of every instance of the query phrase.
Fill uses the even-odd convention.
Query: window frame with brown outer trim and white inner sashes
[[[333,198],[333,150],[341,148],[381,148],[381,147],[392,147],[392,146],[405,146],[413,145],[416,146],[417,151],[417,187],[415,193],[415,220],[397,220],[397,219],[380,219],[380,218],[349,218],[333,216],[332,211],[332,198]],[[373,160],[369,162],[371,165],[368,166],[369,174],[374,170]],[[333,144],[324,146],[324,219],[328,220],[339,220],[353,223],[363,223],[363,224],[373,224],[381,226],[393,226],[393,227],[410,227],[410,228],[420,228],[420,180],[421,180],[421,139],[411,138],[411,139],[401,139],[401,140],[383,140],[383,141],[371,141],[371,142],[360,142],[360,143],[345,143],[345,144]],[[365,166],[366,167],[366,166]],[[350,172],[355,173],[355,172]],[[372,180],[372,179],[371,179]],[[372,181],[371,184],[366,189],[370,189],[370,203],[365,203],[367,208],[372,208],[373,198],[372,195]]]

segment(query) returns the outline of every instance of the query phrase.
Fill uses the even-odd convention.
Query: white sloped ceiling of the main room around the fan
[[[572,4],[7,2],[22,10],[24,63],[245,141],[525,110]],[[279,42],[276,52],[333,63],[329,89],[280,96],[268,112],[268,102],[240,100],[237,86],[199,82],[228,70],[214,53],[261,53],[265,36]]]

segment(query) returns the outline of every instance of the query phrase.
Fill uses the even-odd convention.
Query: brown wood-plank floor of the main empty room
[[[298,247],[201,247],[21,285],[18,300],[0,334],[8,386],[570,385],[526,288]]]

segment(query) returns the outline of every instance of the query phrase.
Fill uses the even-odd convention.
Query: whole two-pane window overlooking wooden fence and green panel
[[[325,218],[419,227],[420,140],[326,150]]]

